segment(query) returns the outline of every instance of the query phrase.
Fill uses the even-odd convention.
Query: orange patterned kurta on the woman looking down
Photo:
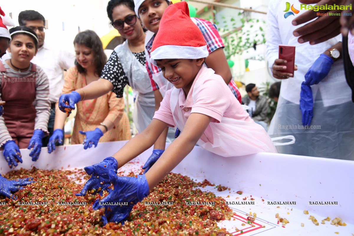
[[[80,74],[76,67],[70,68],[65,75],[63,93],[70,93],[86,86],[85,75]],[[108,92],[103,96],[78,102],[74,122],[72,144],[81,144],[85,135],[82,131],[94,130],[105,119],[114,123],[115,127],[106,132],[99,142],[128,140],[131,138],[129,119],[124,111],[124,99],[117,98],[115,93]]]

